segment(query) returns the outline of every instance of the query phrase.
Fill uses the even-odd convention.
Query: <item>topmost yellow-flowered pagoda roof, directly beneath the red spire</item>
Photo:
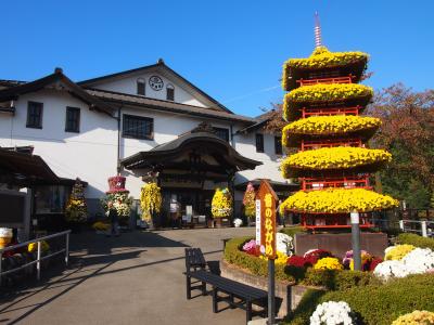
[[[360,81],[369,55],[363,52],[330,52],[326,47],[315,49],[309,57],[290,58],[283,64],[282,88],[290,91],[298,87],[299,79],[352,76]]]

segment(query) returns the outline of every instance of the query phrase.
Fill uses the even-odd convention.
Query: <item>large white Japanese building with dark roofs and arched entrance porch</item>
[[[178,195],[197,210],[228,181],[235,187],[261,178],[285,182],[280,139],[263,132],[264,118],[233,114],[162,60],[79,82],[59,68],[35,81],[0,80],[0,146],[31,145],[58,176],[85,180],[91,211],[117,172],[139,198],[142,177],[159,171],[167,205]],[[209,142],[203,130],[190,133],[203,122],[224,141],[209,133]],[[235,213],[243,196],[237,188]]]

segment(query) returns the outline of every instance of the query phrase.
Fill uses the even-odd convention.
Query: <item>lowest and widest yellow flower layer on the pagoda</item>
[[[280,206],[284,210],[302,212],[349,213],[354,210],[367,212],[398,206],[388,195],[381,195],[363,188],[327,188],[322,191],[299,191],[286,198]]]

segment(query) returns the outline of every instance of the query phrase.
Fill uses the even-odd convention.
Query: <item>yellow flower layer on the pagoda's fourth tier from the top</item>
[[[298,152],[285,158],[281,165],[283,178],[289,178],[294,168],[303,170],[348,169],[368,165],[383,165],[392,155],[382,150],[365,147],[323,147]]]

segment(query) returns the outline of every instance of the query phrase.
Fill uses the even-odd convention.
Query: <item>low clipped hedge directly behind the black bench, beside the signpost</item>
[[[228,240],[225,247],[225,260],[231,264],[246,269],[255,275],[267,276],[268,263],[266,260],[240,250],[242,249],[244,243],[248,242],[250,239],[252,239],[252,237],[239,237]],[[291,274],[285,273],[285,266],[286,265],[283,264],[276,264],[276,278],[295,283],[295,278]]]

